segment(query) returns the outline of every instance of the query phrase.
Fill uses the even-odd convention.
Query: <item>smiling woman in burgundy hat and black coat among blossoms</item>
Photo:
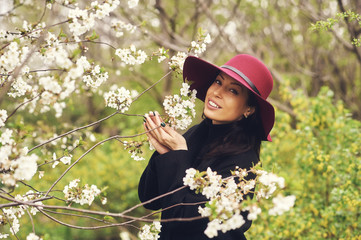
[[[158,113],[146,115],[145,129],[154,129],[148,138],[156,152],[140,179],[138,194],[142,202],[183,186],[188,168],[205,171],[210,167],[223,177],[236,166],[249,169],[259,161],[262,140],[271,141],[274,109],[266,101],[273,80],[267,67],[250,55],[237,55],[218,67],[190,56],[185,60],[183,78],[204,101],[205,119],[183,136],[166,126]],[[159,127],[161,126],[161,127]],[[252,177],[252,176],[250,176]],[[254,177],[254,176],[253,176]],[[196,217],[199,205],[207,199],[189,188],[152,201],[145,207],[163,209],[162,219]],[[174,206],[167,209],[170,206]],[[201,205],[201,204],[200,204]],[[219,232],[214,239],[245,239],[246,223],[236,230]],[[160,239],[208,239],[204,234],[208,220],[162,223]]]

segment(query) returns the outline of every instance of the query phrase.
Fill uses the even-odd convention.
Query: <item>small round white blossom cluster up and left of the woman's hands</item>
[[[137,91],[129,91],[125,87],[118,88],[116,85],[113,85],[109,92],[104,93],[106,106],[117,109],[122,113],[128,111],[133,98],[136,96],[138,96]]]

